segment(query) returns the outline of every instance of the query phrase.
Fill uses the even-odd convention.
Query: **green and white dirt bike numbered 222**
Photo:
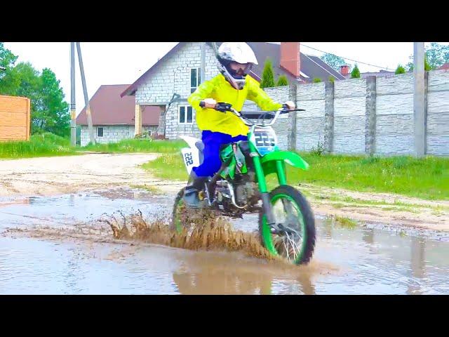
[[[309,263],[315,246],[314,214],[304,195],[287,185],[286,164],[303,170],[309,169],[309,165],[295,152],[279,150],[271,127],[281,114],[305,110],[238,112],[228,103],[217,103],[215,110],[235,114],[249,126],[248,140],[220,148],[222,166],[199,192],[201,206],[234,218],[258,212],[262,245],[291,263]],[[203,160],[203,143],[189,136],[180,138],[189,145],[181,152],[190,173]],[[267,188],[266,177],[270,173],[276,173],[279,182],[272,191]],[[185,207],[183,194],[184,188],[178,192],[173,206],[172,226],[178,232],[184,225],[180,215]]]

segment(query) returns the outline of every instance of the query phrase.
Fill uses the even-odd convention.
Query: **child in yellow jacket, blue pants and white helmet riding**
[[[283,106],[295,109],[291,101],[284,105],[274,102],[260,88],[260,84],[248,75],[253,65],[258,64],[248,44],[225,42],[218,48],[217,59],[220,74],[210,81],[204,81],[188,98],[196,110],[196,123],[202,131],[201,140],[204,144],[203,164],[192,169],[189,178],[191,183],[185,187],[184,201],[191,208],[199,207],[199,190],[207,178],[220,169],[220,146],[247,140],[248,126],[234,114],[214,110],[217,102],[230,103],[236,110],[241,110],[247,99],[266,111]]]

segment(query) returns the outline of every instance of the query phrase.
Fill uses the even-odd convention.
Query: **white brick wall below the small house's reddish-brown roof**
[[[103,128],[103,137],[97,137],[97,128]],[[157,126],[142,126],[142,131],[156,132]],[[98,125],[93,126],[95,142],[99,144],[116,143],[122,139],[134,138],[133,125]],[[89,128],[87,125],[81,126],[81,146],[86,146],[91,142]]]

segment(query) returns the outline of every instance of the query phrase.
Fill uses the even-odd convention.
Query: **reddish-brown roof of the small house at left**
[[[121,97],[129,84],[102,85],[92,96],[91,105],[93,125],[134,125],[135,97]],[[142,110],[142,125],[159,125],[159,106],[145,106]],[[76,117],[77,125],[88,125],[86,107]]]

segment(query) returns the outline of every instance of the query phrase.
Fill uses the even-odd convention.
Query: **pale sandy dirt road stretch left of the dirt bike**
[[[157,154],[83,154],[0,160],[0,196],[54,195],[129,185],[166,185],[138,166]],[[173,186],[175,185],[175,186]]]

